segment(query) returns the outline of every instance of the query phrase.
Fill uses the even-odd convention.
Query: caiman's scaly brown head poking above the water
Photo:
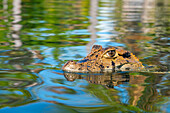
[[[91,52],[82,60],[68,61],[62,67],[68,72],[115,72],[139,71],[144,66],[131,52],[116,47],[102,48],[94,45]]]

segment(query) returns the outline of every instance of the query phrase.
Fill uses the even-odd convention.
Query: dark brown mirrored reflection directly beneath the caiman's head
[[[87,75],[86,77],[81,76],[80,74],[76,73],[64,73],[65,78],[68,81],[74,81],[75,79],[85,79],[89,83],[93,84],[101,84],[107,88],[114,88],[118,84],[123,84],[129,82],[130,76],[127,73],[104,73],[103,75]]]

